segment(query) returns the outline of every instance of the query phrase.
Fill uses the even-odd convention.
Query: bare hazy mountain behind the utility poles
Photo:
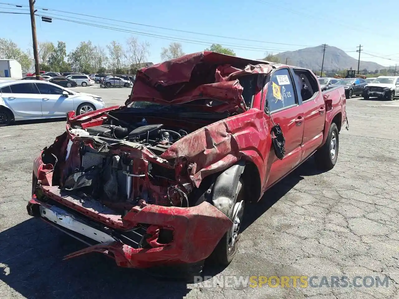
[[[304,67],[314,71],[320,71],[322,68],[324,45],[317,47],[308,47],[296,51],[285,51],[273,55],[284,63],[287,59],[289,65]],[[349,56],[345,51],[333,46],[326,46],[326,53],[324,54],[323,71],[335,71],[343,69],[358,69],[358,59]],[[367,69],[368,71],[375,71],[376,69],[385,69],[383,65],[372,61],[361,61],[359,69]]]

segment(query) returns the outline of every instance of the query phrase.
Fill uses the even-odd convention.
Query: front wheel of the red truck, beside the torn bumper
[[[237,253],[238,241],[241,235],[240,223],[242,222],[245,206],[244,190],[243,180],[240,179],[235,194],[236,202],[229,216],[230,220],[233,222],[233,226],[224,234],[211,256],[209,256],[213,262],[221,266],[229,265]]]

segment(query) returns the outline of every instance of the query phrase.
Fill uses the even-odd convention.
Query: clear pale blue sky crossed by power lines
[[[28,4],[28,0],[2,1]],[[75,13],[39,9],[38,14],[53,17],[57,14],[59,18],[160,35],[164,38],[134,35],[140,41],[150,43],[148,61],[154,63],[160,61],[162,47],[167,47],[174,40],[182,43],[185,53],[202,51],[212,43],[220,43],[233,49],[238,56],[252,59],[263,58],[266,52],[275,54],[322,43],[339,47],[358,58],[356,47],[361,44],[361,60],[382,65],[399,63],[399,38],[393,23],[395,14],[390,15],[385,9],[392,7],[395,10],[397,0],[384,0],[383,5],[382,2],[377,5],[375,0],[36,0],[35,5],[37,8]],[[18,12],[8,8],[15,7],[0,4],[0,11]],[[209,35],[101,20],[76,13]],[[67,51],[73,50],[80,41],[90,40],[94,45],[102,46],[112,40],[124,43],[132,34],[62,20],[44,23],[38,17],[36,27],[38,41],[65,41]],[[0,28],[0,37],[12,39],[22,49],[30,47],[32,32],[29,15],[0,14]]]

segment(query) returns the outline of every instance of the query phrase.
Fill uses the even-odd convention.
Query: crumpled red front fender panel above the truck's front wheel
[[[253,161],[264,178],[262,165],[267,157],[262,153],[269,152],[265,148],[271,148],[271,138],[263,114],[259,109],[250,109],[205,126],[175,142],[160,157],[187,159],[190,179],[196,187],[203,177],[227,169],[241,158]]]

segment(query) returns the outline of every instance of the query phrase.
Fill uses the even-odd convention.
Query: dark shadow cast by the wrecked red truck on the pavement
[[[303,176],[318,172],[309,159],[269,189],[259,203],[247,204],[242,230],[272,207]],[[183,298],[191,291],[184,281],[156,278],[136,269],[116,266],[102,254],[63,261],[85,245],[37,218],[0,233],[0,281],[28,299],[34,298]],[[206,263],[203,275],[223,271]],[[1,283],[0,283],[1,285]]]

